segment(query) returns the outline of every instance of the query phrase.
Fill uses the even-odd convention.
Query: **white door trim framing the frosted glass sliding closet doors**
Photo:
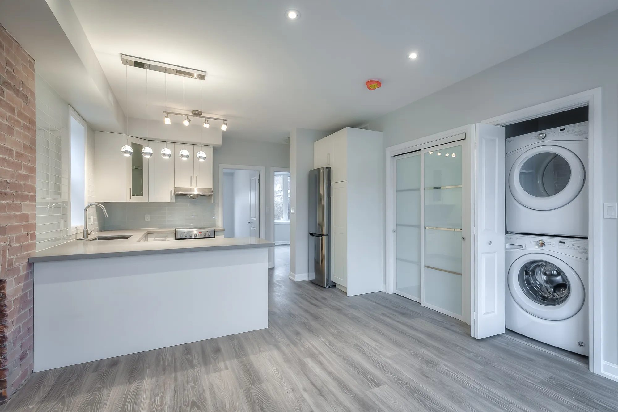
[[[407,141],[405,143],[400,143],[399,145],[387,147],[385,150],[385,159],[384,166],[386,168],[386,172],[384,173],[385,187],[386,187],[386,225],[384,226],[384,239],[386,240],[386,259],[384,260],[385,264],[385,284],[382,287],[382,290],[386,293],[394,293],[395,291],[395,265],[396,265],[396,250],[395,250],[395,233],[393,230],[396,229],[395,222],[395,187],[394,187],[394,167],[395,167],[395,159],[394,156],[399,156],[400,154],[410,153],[413,151],[418,151],[421,149],[430,148],[433,146],[446,145],[447,143],[453,143],[458,140],[470,140],[472,137],[472,127],[470,125],[453,128],[451,130],[446,130],[446,132],[436,133],[431,136]],[[469,144],[464,144],[464,153],[469,153]],[[470,169],[470,156],[466,156],[464,154],[464,170]],[[470,179],[464,174],[464,179]],[[470,185],[470,180],[466,180],[466,183]],[[472,187],[472,186],[470,186]],[[470,228],[470,199],[467,198],[464,194],[464,230],[467,233],[471,233],[472,229]],[[474,197],[472,197],[472,200]],[[471,242],[467,242],[467,254],[472,254],[472,250],[468,247],[468,245],[472,245]],[[422,251],[421,251],[422,256]],[[470,261],[471,259],[468,259]],[[465,262],[468,270],[471,269],[468,262]],[[470,273],[470,272],[468,272]],[[468,300],[469,301],[469,300]],[[468,305],[469,306],[469,305]],[[469,310],[468,310],[469,312]],[[465,314],[465,316],[469,317],[469,313]],[[470,322],[469,319],[467,322]]]

